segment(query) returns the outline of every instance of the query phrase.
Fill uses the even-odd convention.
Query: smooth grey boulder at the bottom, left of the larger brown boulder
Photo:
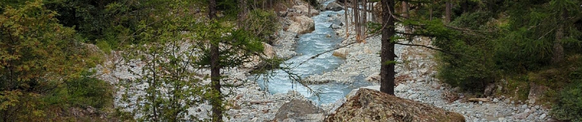
[[[317,108],[310,102],[295,99],[284,103],[273,121],[323,121],[326,115],[324,109]]]

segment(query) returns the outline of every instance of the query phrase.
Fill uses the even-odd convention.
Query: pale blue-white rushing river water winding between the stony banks
[[[323,3],[323,6],[326,6],[329,2],[333,1],[326,1]],[[311,33],[299,36],[296,49],[296,52],[299,55],[290,58],[286,63],[293,63],[291,67],[297,66],[301,62],[308,60],[318,53],[334,49],[338,43],[341,43],[343,39],[335,35],[332,28],[329,28],[332,23],[328,21],[328,15],[343,14],[343,12],[343,10],[339,12],[328,10],[321,12],[317,16],[311,17],[315,21],[315,30]],[[343,62],[344,60],[342,58],[332,56],[332,52],[328,52],[297,66],[297,68],[294,68],[292,72],[301,75],[301,77],[307,77],[322,72],[332,71]],[[288,73],[280,70],[275,72],[275,76],[271,77],[272,79],[268,80],[268,82],[265,82],[262,78],[257,79],[258,84],[260,84],[263,90],[268,90],[271,94],[287,93],[289,90],[295,90],[303,94],[306,98],[312,99],[319,104],[335,102],[338,99],[345,98],[345,95],[354,88],[370,85],[370,83],[362,82],[362,76],[355,76],[353,77],[353,80],[357,81],[351,84],[326,83],[308,86],[319,94],[318,97],[310,93],[306,87],[289,79]],[[267,86],[267,88],[265,88],[265,86]]]

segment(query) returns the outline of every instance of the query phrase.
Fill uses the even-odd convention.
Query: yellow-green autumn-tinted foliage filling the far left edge
[[[83,72],[98,56],[43,6],[26,2],[0,15],[0,121],[51,121],[68,106],[112,102],[108,84]]]

